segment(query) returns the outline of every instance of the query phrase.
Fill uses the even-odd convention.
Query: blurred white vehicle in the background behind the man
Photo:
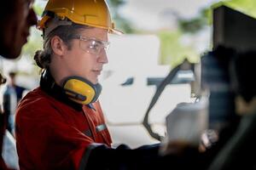
[[[101,103],[113,144],[132,148],[154,144],[158,140],[148,134],[143,119],[157,85],[170,70],[168,65],[158,65],[160,42],[154,36],[135,35],[110,37],[110,41],[116,48],[110,48],[102,75]],[[154,132],[164,136],[166,116],[178,103],[190,101],[193,78],[191,71],[180,71],[166,86],[148,117]]]

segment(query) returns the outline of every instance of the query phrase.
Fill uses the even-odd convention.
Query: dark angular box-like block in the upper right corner
[[[256,48],[256,20],[232,8],[213,10],[213,49],[219,45],[244,51]]]

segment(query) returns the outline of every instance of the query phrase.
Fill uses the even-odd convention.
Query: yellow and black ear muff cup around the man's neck
[[[101,84],[93,84],[82,77],[67,77],[62,88],[69,99],[81,105],[95,102],[102,92]]]

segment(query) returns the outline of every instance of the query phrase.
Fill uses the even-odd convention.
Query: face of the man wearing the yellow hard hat
[[[80,39],[73,39],[71,49],[63,56],[61,67],[67,76],[84,77],[92,83],[98,82],[104,64],[108,63],[106,50],[108,31],[90,28],[80,31]]]

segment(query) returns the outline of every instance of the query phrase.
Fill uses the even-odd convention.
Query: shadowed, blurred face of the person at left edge
[[[16,0],[13,14],[4,24],[3,57],[15,59],[20,55],[22,46],[27,42],[30,26],[37,24],[37,16],[32,9],[32,0]]]

